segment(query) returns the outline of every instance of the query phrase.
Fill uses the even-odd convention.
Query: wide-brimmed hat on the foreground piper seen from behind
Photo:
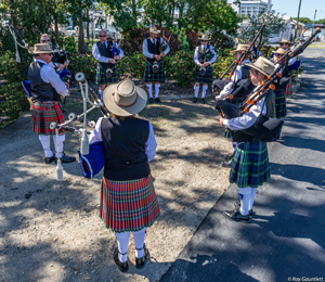
[[[140,113],[146,105],[146,92],[130,79],[109,85],[104,91],[104,104],[118,116],[131,116]]]

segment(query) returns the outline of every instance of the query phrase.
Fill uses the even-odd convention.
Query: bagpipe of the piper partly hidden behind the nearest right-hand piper
[[[251,52],[251,50],[253,49],[255,42],[257,41],[257,39],[259,38],[259,36],[263,33],[263,29],[265,27],[265,24],[262,24],[262,27],[260,28],[260,30],[258,31],[258,34],[256,35],[256,37],[252,39],[252,41],[249,44],[249,48],[246,52],[243,52],[239,60],[234,60],[233,63],[224,70],[224,73],[220,76],[220,78],[216,79],[212,84],[212,88],[214,93],[217,94],[218,92],[220,92],[227,82],[231,81],[232,76],[235,74],[236,68],[238,65],[240,65],[243,63],[243,61],[245,60],[245,57],[247,56],[247,54],[249,52]],[[231,73],[229,74],[227,79],[223,79],[226,74],[229,73],[229,70],[231,70]]]

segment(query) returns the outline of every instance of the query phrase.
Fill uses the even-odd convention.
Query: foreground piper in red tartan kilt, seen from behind
[[[134,117],[146,101],[146,92],[131,80],[109,85],[104,91],[104,104],[110,117],[100,118],[90,136],[90,143],[104,145],[100,216],[115,232],[114,261],[120,271],[129,268],[130,232],[134,238],[135,267],[144,267],[148,254],[145,230],[160,214],[148,164],[156,155],[154,129],[151,123]]]

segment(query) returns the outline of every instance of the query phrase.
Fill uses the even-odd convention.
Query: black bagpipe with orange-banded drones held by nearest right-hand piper
[[[268,93],[271,90],[275,90],[273,82],[276,78],[282,77],[280,70],[287,64],[288,57],[294,57],[302,53],[318,33],[321,33],[321,28],[317,28],[315,33],[312,34],[311,37],[302,44],[297,46],[294,50],[290,50],[287,54],[283,55],[273,73],[268,76],[264,82],[256,87],[253,92],[249,94],[246,101],[239,106],[231,104],[224,100],[217,101],[216,110],[219,112],[219,115],[226,119],[240,117],[247,114],[259,101],[264,98],[266,99]],[[234,142],[272,142],[280,138],[283,124],[284,121],[282,119],[269,118],[261,113],[257,118],[257,121],[251,127],[243,130],[230,130],[230,132]]]

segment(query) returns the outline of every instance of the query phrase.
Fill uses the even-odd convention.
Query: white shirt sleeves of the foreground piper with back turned
[[[94,130],[89,136],[89,144],[95,143],[95,142],[102,142],[102,119],[103,117],[100,117]],[[157,149],[157,142],[154,133],[154,128],[151,123],[150,124],[150,134],[147,138],[147,141],[145,142],[145,154],[147,156],[147,162],[151,162],[156,156],[156,149]]]

